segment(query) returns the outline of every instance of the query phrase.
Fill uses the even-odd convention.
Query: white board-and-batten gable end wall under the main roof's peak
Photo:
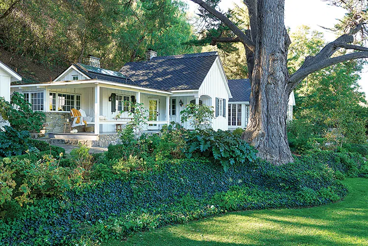
[[[215,62],[213,62],[209,73],[207,74],[202,85],[199,87],[198,94],[200,97],[208,96],[210,97],[211,105],[213,110],[216,109],[216,98],[225,99],[225,116],[219,115],[212,120],[212,128],[217,131],[228,130],[228,118],[227,118],[227,108],[229,102],[229,93],[227,88],[227,79],[225,73],[223,72],[219,58],[217,57]],[[203,102],[205,103],[205,102]],[[216,116],[216,115],[215,115]]]

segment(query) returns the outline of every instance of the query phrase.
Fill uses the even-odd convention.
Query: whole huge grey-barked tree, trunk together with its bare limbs
[[[229,27],[236,37],[216,37],[218,42],[241,42],[246,51],[251,82],[250,121],[242,138],[259,152],[258,156],[273,164],[293,162],[286,131],[287,106],[290,93],[309,74],[333,64],[356,58],[368,57],[368,48],[349,45],[353,34],[362,25],[351,29],[320,53],[308,56],[294,74],[287,66],[289,35],[284,24],[285,0],[244,0],[248,7],[250,30],[242,31],[226,16],[203,0],[191,0]],[[339,49],[360,52],[331,58]]]

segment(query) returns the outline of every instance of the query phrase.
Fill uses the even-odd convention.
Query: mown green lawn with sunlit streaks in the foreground
[[[335,204],[229,213],[105,246],[368,246],[368,179],[344,183],[350,194]]]

